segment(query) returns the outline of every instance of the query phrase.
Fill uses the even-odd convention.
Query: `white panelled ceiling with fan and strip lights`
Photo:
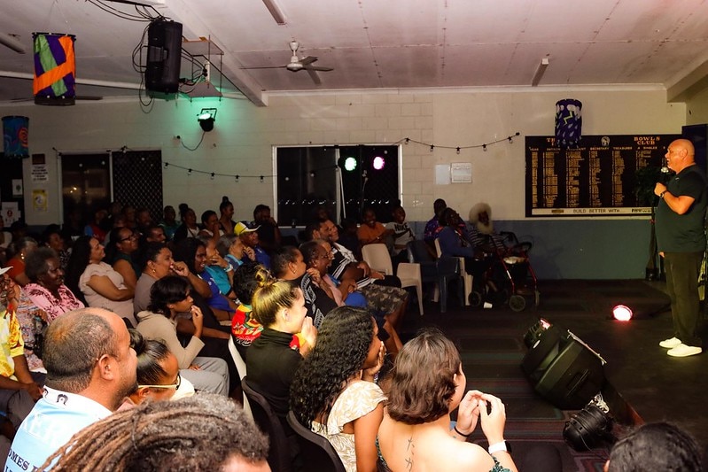
[[[183,35],[211,37],[225,54],[223,71],[246,97],[309,89],[407,89],[530,86],[541,58],[541,86],[654,84],[668,99],[705,86],[708,1],[705,0],[274,0],[279,26],[262,0],[149,0],[157,13],[183,23]],[[0,0],[0,34],[27,50],[0,45],[0,101],[31,97],[32,32],[76,35],[77,81],[136,85],[132,52],[143,21],[120,19],[103,0]],[[103,8],[103,9],[102,9]],[[157,12],[157,13],[156,13]],[[316,56],[315,85],[305,72],[243,69],[284,66]],[[219,57],[212,56],[218,65]],[[184,62],[182,75],[189,75]],[[219,74],[212,80],[218,84]],[[226,81],[224,91],[235,90]],[[116,84],[114,84],[116,85]],[[136,94],[134,89],[79,85],[77,95]]]

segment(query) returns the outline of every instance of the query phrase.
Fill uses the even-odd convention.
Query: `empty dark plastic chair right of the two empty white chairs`
[[[460,279],[460,263],[457,258],[441,256],[433,259],[427,244],[416,240],[408,243],[408,260],[420,264],[420,275],[423,282],[434,282],[440,289],[440,313],[447,312],[447,284],[457,280],[460,304],[464,306],[463,282]]]

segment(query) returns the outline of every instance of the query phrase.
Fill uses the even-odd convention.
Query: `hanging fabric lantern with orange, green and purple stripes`
[[[35,104],[74,104],[76,62],[74,35],[33,33]]]

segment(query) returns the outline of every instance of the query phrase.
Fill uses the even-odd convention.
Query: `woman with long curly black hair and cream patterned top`
[[[377,331],[368,311],[335,308],[291,387],[298,421],[326,437],[352,472],[377,469],[376,435],[385,400],[374,383],[385,352]]]

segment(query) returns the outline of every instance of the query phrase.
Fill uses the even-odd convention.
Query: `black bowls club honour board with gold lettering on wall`
[[[651,213],[637,198],[636,171],[661,167],[681,135],[585,135],[562,149],[554,136],[526,136],[526,216]]]

